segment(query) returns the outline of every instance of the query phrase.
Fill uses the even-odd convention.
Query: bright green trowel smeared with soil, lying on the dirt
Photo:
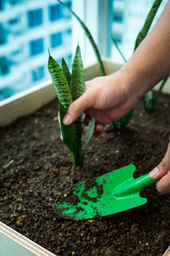
[[[134,178],[135,169],[125,166],[75,185],[63,201],[55,202],[55,209],[64,218],[88,219],[144,205],[147,199],[139,195],[140,191],[157,180],[149,174]]]

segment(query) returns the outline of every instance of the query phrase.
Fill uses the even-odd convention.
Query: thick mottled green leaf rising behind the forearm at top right
[[[134,50],[137,49],[139,44],[142,42],[142,40],[145,38],[146,34],[148,33],[148,31],[150,29],[150,25],[155,18],[156,12],[157,12],[161,2],[162,2],[162,0],[155,0],[155,2],[153,3],[149,14],[147,15],[146,20],[144,21],[144,26],[143,26],[142,30],[139,32],[139,35],[136,39]]]

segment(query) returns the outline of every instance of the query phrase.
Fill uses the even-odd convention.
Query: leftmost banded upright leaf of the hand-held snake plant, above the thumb
[[[59,102],[61,102],[63,107],[67,110],[72,102],[71,90],[61,67],[59,67],[59,64],[51,55],[49,55],[48,58],[48,71],[51,74]]]

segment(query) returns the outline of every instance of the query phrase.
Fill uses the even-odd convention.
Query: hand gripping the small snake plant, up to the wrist
[[[71,103],[63,122],[65,125],[70,125],[84,112],[83,123],[88,125],[89,120],[94,116],[96,119],[94,135],[99,135],[105,125],[124,116],[137,102],[138,97],[128,84],[130,84],[128,77],[122,70],[88,81],[85,93]]]

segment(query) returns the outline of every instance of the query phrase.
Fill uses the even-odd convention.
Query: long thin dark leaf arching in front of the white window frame
[[[90,43],[92,44],[93,48],[94,48],[94,53],[96,55],[96,58],[98,60],[98,64],[99,64],[99,70],[102,76],[105,76],[105,68],[103,66],[103,63],[101,61],[100,55],[99,55],[99,49],[97,47],[97,45],[94,42],[94,38],[92,37],[91,33],[88,30],[88,27],[84,24],[84,22],[77,16],[77,14],[66,4],[63,3],[60,0],[56,0],[59,3],[61,3],[62,5],[64,5],[67,9],[69,9],[69,11],[71,12],[72,15],[75,16],[75,18],[78,20],[78,22],[80,23],[80,25],[82,26],[84,32],[86,33],[86,35],[88,36],[88,40],[90,41]]]

